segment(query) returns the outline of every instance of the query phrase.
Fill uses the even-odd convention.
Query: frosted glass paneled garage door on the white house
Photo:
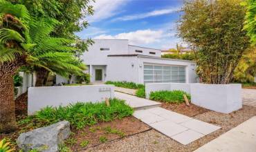
[[[144,65],[144,83],[185,83],[184,66]]]

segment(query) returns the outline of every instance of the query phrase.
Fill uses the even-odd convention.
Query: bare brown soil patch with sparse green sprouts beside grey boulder
[[[73,130],[71,137],[66,140],[66,146],[70,147],[72,151],[82,151],[149,130],[149,126],[135,117],[125,117],[122,120],[100,122],[93,126],[86,126],[84,129]]]

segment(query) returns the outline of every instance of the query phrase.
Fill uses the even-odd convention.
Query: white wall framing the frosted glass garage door
[[[163,58],[150,58],[150,57],[138,57],[138,82],[140,84],[144,83],[144,64],[153,64],[153,65],[165,65],[165,66],[185,66],[185,83],[194,83],[196,82],[196,73],[195,73],[195,63],[194,61],[185,61],[179,59],[163,59]]]

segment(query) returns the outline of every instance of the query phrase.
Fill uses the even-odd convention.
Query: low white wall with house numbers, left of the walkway
[[[46,106],[67,106],[75,102],[102,102],[114,97],[113,85],[43,86],[28,88],[28,115]]]

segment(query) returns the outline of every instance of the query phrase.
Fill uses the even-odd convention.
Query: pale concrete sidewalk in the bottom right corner
[[[231,129],[215,140],[196,149],[195,152],[255,152],[256,151],[256,116]]]

